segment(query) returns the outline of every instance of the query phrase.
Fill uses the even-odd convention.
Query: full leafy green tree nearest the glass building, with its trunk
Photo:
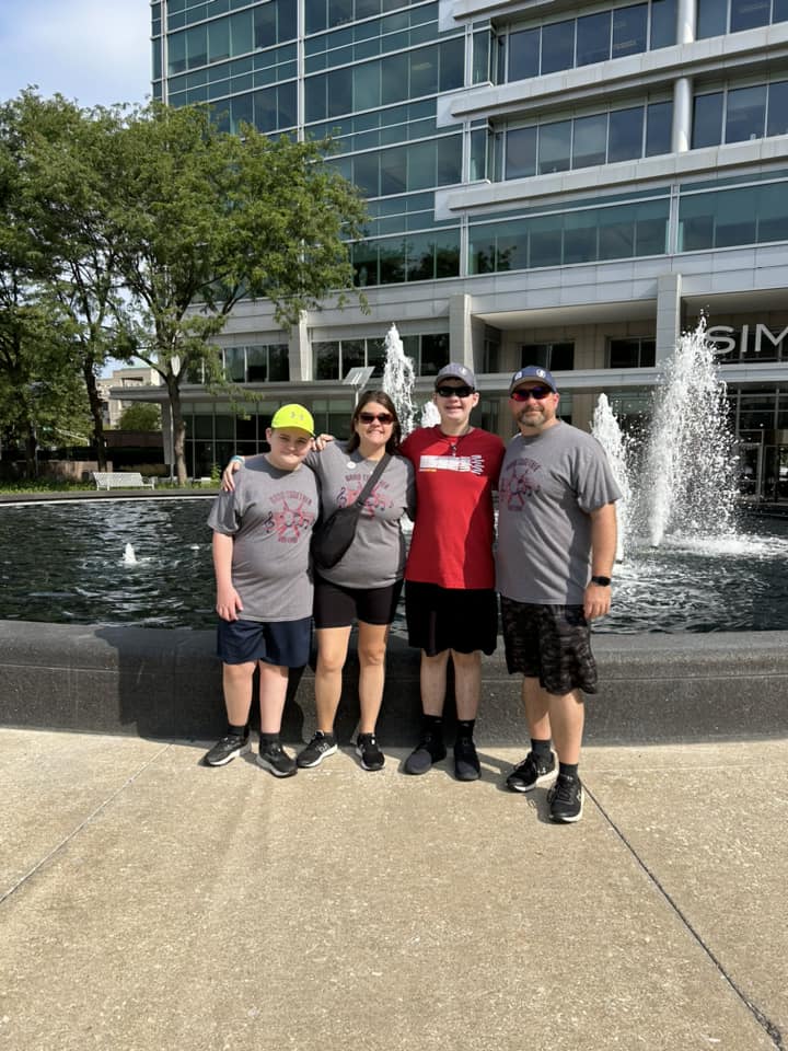
[[[107,240],[124,287],[124,356],[166,385],[183,483],[182,378],[202,368],[224,381],[215,340],[243,297],[271,300],[283,327],[329,297],[343,303],[352,288],[343,236],[359,234],[364,205],[324,163],[326,142],[222,132],[202,106],[152,103],[116,145]]]

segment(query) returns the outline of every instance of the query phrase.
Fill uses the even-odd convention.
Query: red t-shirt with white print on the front
[[[494,588],[493,489],[506,447],[474,428],[448,438],[419,427],[399,451],[416,469],[416,522],[405,579],[441,588]]]

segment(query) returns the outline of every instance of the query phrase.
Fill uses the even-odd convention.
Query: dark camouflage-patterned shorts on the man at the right
[[[533,605],[501,596],[507,668],[557,696],[596,693],[591,630],[581,605]]]

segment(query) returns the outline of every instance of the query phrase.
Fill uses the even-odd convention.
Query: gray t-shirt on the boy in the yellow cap
[[[320,508],[314,474],[303,465],[280,471],[260,457],[234,482],[233,493],[216,498],[208,524],[233,538],[232,581],[244,607],[241,619],[311,616],[310,541]]]

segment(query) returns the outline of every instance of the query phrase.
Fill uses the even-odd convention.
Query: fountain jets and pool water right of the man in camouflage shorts
[[[733,437],[706,322],[685,333],[652,399],[645,442],[622,434],[606,395],[592,432],[622,490],[612,612],[602,631],[766,630],[788,600],[788,530],[737,529]]]

